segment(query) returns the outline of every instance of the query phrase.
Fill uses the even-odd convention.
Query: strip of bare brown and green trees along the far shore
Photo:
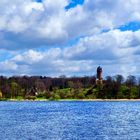
[[[140,78],[132,75],[107,76],[101,85],[96,84],[96,76],[0,76],[0,100],[139,98]]]

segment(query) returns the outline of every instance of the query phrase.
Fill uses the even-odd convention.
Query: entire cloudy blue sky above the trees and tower
[[[140,76],[140,0],[0,0],[0,75]]]

